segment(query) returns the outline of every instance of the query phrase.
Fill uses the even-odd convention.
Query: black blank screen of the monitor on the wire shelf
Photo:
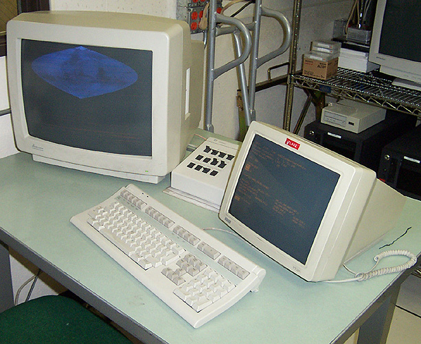
[[[387,0],[380,35],[381,54],[421,62],[420,5],[419,0]]]

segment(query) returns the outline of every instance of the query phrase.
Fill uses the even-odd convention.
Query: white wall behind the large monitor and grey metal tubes
[[[310,47],[315,39],[330,39],[335,19],[347,17],[353,0],[307,0],[303,1],[301,16],[301,31],[299,36],[299,56]],[[133,12],[151,14],[161,17],[175,18],[177,0],[51,0],[52,10],[102,10],[115,12]],[[224,1],[225,5],[228,1]],[[291,19],[293,12],[292,0],[263,0],[263,6],[278,10]],[[234,7],[233,7],[234,8]],[[238,7],[237,7],[238,8]],[[236,10],[234,8],[233,10]],[[231,11],[232,12],[232,11]],[[241,14],[247,22],[251,17],[251,6]],[[229,14],[230,12],[227,12]],[[276,49],[280,45],[282,31],[273,19],[264,18],[262,21],[262,34],[260,36],[260,56]],[[194,39],[201,39],[201,34],[194,35]],[[220,36],[216,39],[216,67],[234,58],[234,49],[231,36]],[[266,80],[266,71],[269,66],[288,61],[288,52],[266,63],[258,69],[258,82]],[[301,61],[301,59],[300,59]],[[299,62],[301,63],[301,62]],[[285,69],[273,72],[272,76],[284,74]],[[0,111],[8,109],[8,95],[5,82],[5,58],[0,57]],[[236,107],[236,94],[238,89],[236,70],[231,70],[216,79],[214,85],[214,111],[213,124],[216,133],[230,138],[236,138],[238,133],[238,109]],[[282,127],[284,112],[285,86],[277,86],[256,94],[255,109],[257,119]],[[292,127],[301,111],[306,96],[300,89],[295,90]],[[314,120],[315,111],[310,107],[306,122]],[[10,116],[0,116],[0,158],[16,153],[12,138]],[[13,253],[12,275],[14,292],[23,281],[30,277],[36,268],[25,259]],[[54,281],[43,277],[44,281],[37,283],[34,297],[41,294],[56,293],[61,290]],[[29,288],[29,286],[27,287]],[[21,300],[25,299],[25,292]]]

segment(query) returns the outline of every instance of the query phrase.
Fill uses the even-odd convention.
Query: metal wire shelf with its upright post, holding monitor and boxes
[[[421,92],[394,86],[391,80],[380,76],[378,72],[361,73],[339,68],[337,76],[328,80],[318,80],[298,73],[296,65],[300,17],[301,0],[294,0],[293,42],[289,56],[284,129],[290,130],[291,127],[294,87],[313,89],[330,96],[372,103],[421,118]]]

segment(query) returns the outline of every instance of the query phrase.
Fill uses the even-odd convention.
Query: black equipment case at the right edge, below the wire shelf
[[[421,126],[383,148],[377,175],[400,193],[421,200]]]

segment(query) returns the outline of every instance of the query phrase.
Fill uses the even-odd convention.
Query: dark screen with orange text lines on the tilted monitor
[[[306,264],[339,174],[256,135],[229,213]]]

